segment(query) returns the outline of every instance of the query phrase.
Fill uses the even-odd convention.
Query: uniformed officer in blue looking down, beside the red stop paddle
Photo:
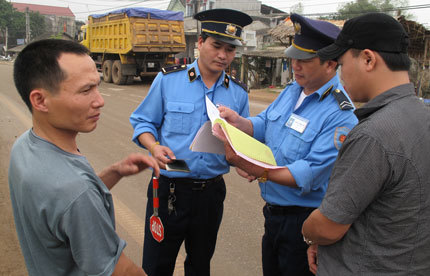
[[[148,275],[172,275],[182,242],[187,257],[185,275],[210,275],[223,215],[226,187],[222,175],[229,172],[224,155],[192,152],[189,147],[200,127],[209,120],[205,96],[249,116],[247,88],[228,76],[225,69],[241,45],[248,15],[228,9],[203,11],[199,58],[192,64],[163,68],[149,93],[130,117],[133,141],[154,156],[160,168],[172,159],[185,159],[190,172],[161,170],[159,215],[165,237],[151,236],[152,185],[148,187],[142,267]]]

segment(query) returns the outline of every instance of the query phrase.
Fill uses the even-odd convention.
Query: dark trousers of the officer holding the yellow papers
[[[264,276],[313,276],[309,271],[302,225],[313,208],[265,205],[262,241]]]

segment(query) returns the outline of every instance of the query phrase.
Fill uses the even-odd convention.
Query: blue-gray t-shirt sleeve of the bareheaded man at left
[[[69,243],[74,261],[88,275],[112,275],[126,246],[108,212],[113,208],[111,197],[87,189],[71,203],[58,224],[58,236]]]

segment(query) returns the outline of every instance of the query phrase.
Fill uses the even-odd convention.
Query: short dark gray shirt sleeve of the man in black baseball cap
[[[348,136],[319,210],[337,223],[353,223],[378,196],[389,171],[387,154],[379,141],[367,135]]]

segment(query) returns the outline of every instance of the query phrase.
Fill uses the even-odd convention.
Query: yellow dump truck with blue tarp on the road
[[[182,12],[125,8],[88,16],[83,40],[105,82],[155,76],[185,51]]]

